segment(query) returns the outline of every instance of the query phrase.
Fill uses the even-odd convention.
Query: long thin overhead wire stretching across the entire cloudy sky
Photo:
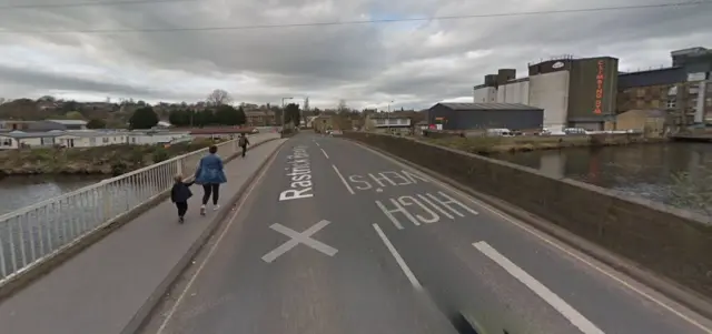
[[[101,3],[149,3],[149,2],[150,3],[158,3],[158,2],[177,2],[177,1],[194,1],[194,0],[134,0],[134,1],[101,2]],[[547,16],[547,14],[563,14],[563,13],[642,10],[642,9],[672,9],[672,8],[705,6],[705,4],[712,4],[712,0],[696,0],[696,1],[684,1],[684,2],[672,2],[672,3],[655,3],[655,4],[630,4],[630,6],[614,6],[614,7],[596,7],[596,8],[582,8],[582,9],[521,11],[521,12],[505,12],[505,13],[441,16],[441,17],[425,17],[425,18],[369,19],[369,20],[350,20],[350,21],[332,21],[332,22],[304,22],[304,23],[277,23],[277,24],[248,24],[248,26],[231,26],[231,27],[185,27],[185,28],[171,27],[171,28],[80,29],[80,30],[2,30],[2,29],[0,29],[0,34],[8,34],[8,33],[131,33],[131,32],[239,31],[239,30],[264,30],[264,29],[280,29],[280,28],[305,28],[305,27],[329,27],[329,26],[384,24],[384,23],[402,23],[402,22],[451,21],[451,20],[488,19],[488,18],[507,18],[507,17],[528,17],[528,16]],[[78,3],[76,6],[79,7]]]

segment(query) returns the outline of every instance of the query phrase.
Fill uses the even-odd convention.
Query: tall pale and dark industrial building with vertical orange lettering
[[[561,57],[528,64],[528,77],[501,69],[485,75],[475,103],[521,103],[544,110],[544,128],[603,130],[615,115],[617,62],[611,57]]]

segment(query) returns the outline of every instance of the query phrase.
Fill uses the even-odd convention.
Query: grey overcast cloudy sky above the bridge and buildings
[[[224,89],[253,103],[426,108],[471,101],[484,74],[522,77],[553,55],[613,55],[635,70],[669,65],[671,50],[712,48],[709,2],[482,16],[672,1],[0,0],[0,98],[191,102]],[[448,16],[481,17],[303,24]]]

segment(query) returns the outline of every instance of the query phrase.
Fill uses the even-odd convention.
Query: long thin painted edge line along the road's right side
[[[416,172],[416,173],[418,172],[418,170],[415,169],[415,168],[412,168],[412,166],[409,166],[409,165],[407,165],[405,163],[402,163],[402,162],[399,162],[399,161],[397,161],[397,160],[395,160],[395,159],[393,159],[393,158],[390,158],[388,155],[385,155],[385,154],[383,154],[380,152],[374,151],[374,150],[372,150],[369,148],[366,148],[366,146],[364,146],[362,144],[356,144],[356,146],[359,146],[359,148],[362,148],[362,149],[364,149],[364,150],[366,150],[366,151],[368,151],[368,152],[370,152],[373,154],[376,154],[376,155],[382,156],[382,158],[384,158],[384,159],[386,159],[388,161],[392,161],[393,163],[395,163],[397,165],[400,165],[400,166],[403,166],[403,168],[405,168],[407,170],[411,170],[411,171]],[[472,202],[475,205],[484,208],[485,210],[490,211],[492,214],[494,214],[496,216],[500,216],[504,221],[506,221],[506,222],[508,222],[508,223],[511,223],[511,224],[524,230],[525,232],[532,234],[533,236],[537,237],[538,240],[543,241],[544,243],[548,244],[550,246],[558,250],[560,252],[571,256],[574,260],[580,261],[581,263],[583,263],[583,264],[585,264],[585,265],[587,265],[590,267],[592,267],[593,270],[597,271],[599,273],[607,276],[609,279],[611,279],[611,280],[615,281],[616,283],[623,285],[624,287],[626,287],[626,289],[635,292],[636,294],[641,295],[642,297],[653,302],[657,306],[660,306],[660,307],[666,310],[668,312],[679,316],[680,318],[686,321],[691,325],[700,328],[704,333],[712,334],[712,330],[711,328],[704,326],[703,324],[701,324],[700,322],[695,321],[694,318],[692,318],[692,317],[690,317],[690,316],[676,311],[672,306],[668,305],[668,303],[665,303],[665,302],[652,296],[651,294],[642,291],[641,289],[634,286],[633,284],[631,284],[629,282],[625,282],[623,279],[617,277],[615,274],[610,272],[610,271],[613,271],[613,270],[606,270],[606,269],[601,267],[600,265],[597,265],[597,264],[584,259],[583,256],[576,254],[574,251],[567,250],[566,247],[561,245],[558,242],[552,241],[543,232],[540,232],[540,231],[535,230],[534,227],[530,227],[525,223],[517,222],[515,219],[510,217],[508,215],[500,212],[498,210],[492,208],[490,204],[486,204],[486,203],[484,203],[482,201],[473,199],[469,194],[467,194],[467,193],[465,193],[465,192],[463,192],[461,190],[457,190],[457,189],[455,189],[455,188],[453,188],[453,186],[451,186],[451,185],[448,185],[448,184],[446,184],[446,183],[444,183],[444,182],[442,182],[442,181],[439,181],[437,179],[434,179],[434,178],[429,178],[429,179],[433,181],[433,183],[437,184],[442,189],[445,189],[445,190],[447,190],[447,191],[449,191],[452,193],[455,193],[455,194],[466,199],[467,201]],[[613,271],[613,272],[615,272],[615,271]],[[617,274],[620,274],[620,273],[617,273]]]

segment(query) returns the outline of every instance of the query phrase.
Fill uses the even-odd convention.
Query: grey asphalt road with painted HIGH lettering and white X
[[[453,311],[497,334],[712,333],[521,223],[314,134],[285,143],[145,333],[457,333]]]

